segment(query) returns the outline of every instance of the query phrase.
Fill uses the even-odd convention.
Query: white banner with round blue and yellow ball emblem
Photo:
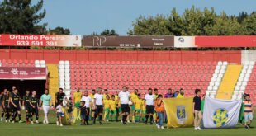
[[[234,128],[239,118],[242,100],[219,100],[205,97],[202,127]]]

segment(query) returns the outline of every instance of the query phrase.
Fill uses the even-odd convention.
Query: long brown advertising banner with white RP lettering
[[[173,47],[174,36],[83,36],[86,47]]]

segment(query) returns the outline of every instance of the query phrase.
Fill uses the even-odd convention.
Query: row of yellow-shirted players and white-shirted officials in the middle
[[[103,111],[103,120],[113,120],[114,116],[114,120],[118,121],[118,116],[122,115],[121,122],[126,124],[126,121],[130,122],[130,110],[132,110],[133,122],[140,122],[142,118],[142,121],[147,123],[150,117],[150,124],[153,124],[153,115],[155,113],[154,100],[157,97],[157,89],[154,90],[153,94],[153,90],[149,88],[149,93],[142,99],[137,89],[130,94],[127,87],[123,87],[121,92],[116,91],[115,95],[108,94],[107,90],[104,90],[104,94],[102,94],[102,88],[97,88],[97,91],[92,90],[90,95],[88,95],[88,91],[85,91],[85,96],[83,97],[82,92],[79,90],[73,94],[74,106],[79,107],[79,102],[85,102],[85,106],[87,106],[88,113],[90,113],[85,119],[87,124],[88,119],[92,119],[93,124],[95,124],[97,117],[99,124],[102,124]],[[69,103],[71,102],[72,100],[70,99]],[[70,104],[68,112],[72,112]]]

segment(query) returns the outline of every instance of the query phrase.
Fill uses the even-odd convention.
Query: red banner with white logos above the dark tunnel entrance
[[[0,67],[0,79],[46,79],[46,68]]]

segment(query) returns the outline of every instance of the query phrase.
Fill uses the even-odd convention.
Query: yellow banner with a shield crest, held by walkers
[[[164,98],[164,107],[168,118],[168,128],[192,127],[193,98]]]

